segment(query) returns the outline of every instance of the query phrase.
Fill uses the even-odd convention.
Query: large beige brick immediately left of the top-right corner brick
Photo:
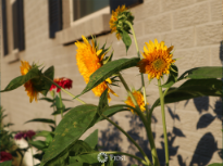
[[[209,21],[208,2],[177,10],[173,13],[174,28],[183,28],[191,25],[207,23]]]

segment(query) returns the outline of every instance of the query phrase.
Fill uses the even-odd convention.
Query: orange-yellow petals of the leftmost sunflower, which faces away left
[[[28,73],[28,71],[32,68],[32,66],[28,64],[26,61],[21,61],[22,66],[21,66],[21,74],[24,76]],[[27,82],[24,84],[25,91],[27,91],[27,95],[29,97],[29,102],[32,103],[33,100],[37,102],[38,99],[38,91],[35,90],[32,80],[28,80]]]

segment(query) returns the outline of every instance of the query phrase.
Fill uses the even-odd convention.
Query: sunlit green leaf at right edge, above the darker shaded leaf
[[[178,80],[191,78],[191,79],[208,79],[208,78],[222,78],[222,66],[206,66],[197,67],[186,71]]]

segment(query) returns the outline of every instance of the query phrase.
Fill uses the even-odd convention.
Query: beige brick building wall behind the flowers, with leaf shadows
[[[168,47],[174,46],[174,58],[178,59],[175,64],[178,66],[179,75],[193,67],[221,66],[221,3],[220,0],[145,0],[143,4],[131,9],[133,15],[135,15],[134,28],[139,50],[143,51],[144,43],[149,42],[149,40],[153,41],[154,38],[159,41],[165,41]],[[9,56],[13,56],[12,53],[8,58],[1,55],[1,89],[11,79],[21,75],[21,63],[17,60],[25,60],[29,63],[37,62],[38,64],[44,64],[46,68],[54,65],[54,76],[73,79],[71,92],[79,94],[86,84],[76,66],[76,47],[75,44],[63,46],[57,38],[49,38],[48,1],[24,0],[24,17],[25,51],[18,52],[18,59],[10,63]],[[80,31],[83,29],[77,30]],[[10,38],[12,37],[10,36]],[[136,56],[134,43],[126,55],[123,42],[116,40],[114,34],[100,36],[98,40],[101,46],[106,41],[108,46],[112,46],[114,60]],[[140,87],[140,77],[136,67],[124,71],[123,76],[131,87],[136,89]],[[149,104],[152,104],[159,98],[157,81],[152,80],[148,85],[147,76],[145,76],[145,80],[147,93],[149,94],[147,100]],[[110,105],[123,103],[122,101],[126,99],[127,94],[124,88],[121,86],[121,88],[112,87],[112,89],[120,97],[112,97]],[[70,99],[64,93],[62,95]],[[91,91],[80,97],[80,99],[87,103],[98,103],[98,98]],[[32,118],[52,117],[50,116],[52,113],[50,104],[45,101],[29,103],[24,87],[1,93],[1,104],[9,114],[7,120],[15,124],[12,126],[13,130],[50,129],[46,124],[24,124]],[[78,104],[77,101],[73,101],[67,102],[66,106]],[[168,132],[170,132],[169,139],[172,140],[170,142],[171,165],[184,165],[184,162],[186,165],[196,163],[197,165],[202,165],[201,163],[207,165],[208,163],[221,162],[218,154],[219,151],[216,151],[216,149],[222,148],[221,106],[222,101],[219,98],[208,97],[165,106]],[[216,112],[220,114],[216,114]],[[205,114],[208,115],[205,116]],[[153,132],[156,132],[156,145],[158,153],[162,156],[164,151],[161,143],[163,139],[161,138],[162,120],[160,107],[154,110],[153,116],[157,119],[152,124]],[[207,118],[202,122],[205,125],[202,124],[202,127],[199,127],[198,122],[201,117]],[[57,120],[59,123],[59,116]],[[137,116],[133,116],[129,112],[123,112],[116,114],[113,120],[129,131],[149,153],[146,131],[140,127],[141,123]],[[210,123],[211,120],[213,122]],[[84,137],[96,128],[99,129],[100,144],[104,149],[114,150],[119,148],[128,153],[137,152],[126,138],[107,122],[95,125]],[[117,142],[120,145],[117,145]],[[123,165],[127,164],[123,162]]]

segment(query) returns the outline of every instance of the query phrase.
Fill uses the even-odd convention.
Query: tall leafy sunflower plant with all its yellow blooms
[[[54,78],[54,67],[51,66],[44,72],[41,65],[22,61],[21,73],[11,80],[9,85],[1,91],[7,92],[14,90],[24,85],[25,91],[29,97],[29,101],[38,101],[38,94],[41,93],[46,100],[51,102],[53,107],[52,115],[61,114],[62,120],[57,125],[55,119],[36,118],[30,122],[48,123],[51,131],[37,132],[29,144],[37,148],[41,153],[34,155],[40,161],[40,166],[113,166],[115,165],[113,155],[124,155],[133,157],[147,166],[160,166],[154,139],[151,130],[152,112],[157,106],[161,106],[165,165],[169,162],[169,144],[166,136],[166,123],[164,104],[189,100],[198,97],[222,97],[222,67],[221,66],[203,66],[186,71],[178,76],[178,68],[175,65],[177,61],[174,59],[174,46],[165,46],[164,41],[145,41],[144,50],[138,49],[138,42],[133,28],[134,16],[125,5],[119,7],[112,11],[110,20],[111,31],[115,33],[117,40],[123,40],[126,53],[132,44],[133,36],[136,47],[136,58],[125,58],[112,60],[113,52],[111,47],[107,48],[106,43],[100,48],[97,39],[91,37],[91,42],[83,36],[83,41],[76,41],[76,61],[80,75],[84,77],[87,86],[80,94],[72,94],[67,89],[72,88],[72,80],[69,78]],[[141,88],[131,90],[127,82],[123,78],[121,72],[138,67],[141,75]],[[146,85],[144,75],[149,80],[157,79],[160,98],[148,107]],[[168,79],[164,79],[168,75]],[[183,84],[178,87],[174,85],[181,80]],[[149,81],[150,82],[150,81]],[[119,84],[119,85],[117,85]],[[127,92],[126,100],[123,104],[110,105],[111,94],[119,95],[112,90],[112,86],[121,86]],[[53,89],[57,88],[57,92]],[[88,104],[79,99],[84,93],[92,90],[96,97],[99,97],[99,103]],[[52,98],[47,98],[48,91],[51,91]],[[67,93],[71,100],[79,101],[79,105],[75,107],[65,107],[62,99],[62,92]],[[117,124],[110,117],[123,111],[131,111],[133,116],[139,116],[147,132],[147,139],[150,144],[150,154],[146,154],[143,148]],[[66,114],[64,114],[66,113]],[[98,130],[95,130],[85,140],[79,138],[95,124],[108,120],[114,125],[127,139],[138,149],[143,157],[119,151],[108,151],[101,153],[97,146]],[[45,141],[37,138],[45,137]],[[218,165],[218,164],[214,164]],[[136,166],[136,165],[132,165]]]

